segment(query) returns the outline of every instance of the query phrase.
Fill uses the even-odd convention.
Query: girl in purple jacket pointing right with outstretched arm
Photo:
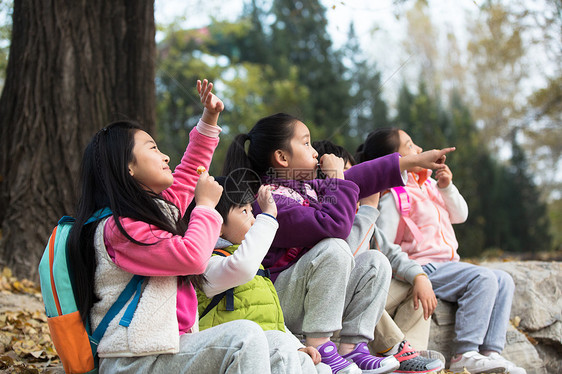
[[[346,239],[358,199],[404,185],[402,171],[415,165],[441,168],[454,148],[402,158],[394,153],[344,173],[341,158],[326,154],[318,160],[311,143],[297,118],[283,113],[262,118],[234,139],[224,174],[247,169],[274,189],[279,230],[263,265],[275,282],[287,327],[304,335],[333,373],[391,372],[398,361],[372,356],[367,348],[384,310],[390,265],[377,251],[354,261]],[[314,179],[318,169],[328,178]],[[338,330],[339,348],[331,341]]]

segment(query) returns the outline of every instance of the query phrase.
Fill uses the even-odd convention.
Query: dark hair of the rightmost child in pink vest
[[[384,127],[369,133],[367,140],[357,148],[355,160],[365,162],[398,152],[400,148],[400,129]]]

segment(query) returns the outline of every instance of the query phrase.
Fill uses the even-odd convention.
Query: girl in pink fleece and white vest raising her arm
[[[198,332],[193,285],[202,281],[219,237],[222,218],[214,208],[222,187],[197,168],[209,168],[224,105],[211,93],[212,83],[198,81],[197,89],[205,109],[175,172],[153,138],[131,121],[110,124],[86,148],[68,239],[84,322],[95,329],[133,274],[146,277],[130,323],[119,323],[129,300],[99,342],[100,372],[270,372],[259,325],[234,321]],[[196,207],[186,227],[181,217],[192,199]],[[107,207],[111,216],[85,224]]]

